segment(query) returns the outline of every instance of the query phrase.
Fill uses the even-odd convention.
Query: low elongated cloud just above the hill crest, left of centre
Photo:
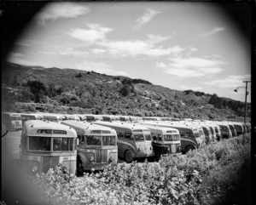
[[[128,76],[127,72],[115,71],[113,70],[112,66],[102,62],[84,61],[82,63],[76,64],[75,69],[82,71],[96,71],[111,76]]]

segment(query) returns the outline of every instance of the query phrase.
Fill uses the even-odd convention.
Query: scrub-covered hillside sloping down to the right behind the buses
[[[5,87],[13,88],[10,92]],[[94,71],[2,65],[3,111],[240,119],[244,104]],[[210,104],[210,105],[209,105]],[[250,104],[247,108],[250,115]]]

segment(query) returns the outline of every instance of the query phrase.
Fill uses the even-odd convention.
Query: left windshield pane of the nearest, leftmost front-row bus
[[[49,137],[29,137],[30,151],[50,151],[50,138]]]

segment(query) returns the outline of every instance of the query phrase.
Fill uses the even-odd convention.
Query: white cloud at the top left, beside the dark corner
[[[49,3],[37,16],[41,25],[46,20],[59,18],[76,18],[79,15],[87,14],[90,9],[76,3]]]

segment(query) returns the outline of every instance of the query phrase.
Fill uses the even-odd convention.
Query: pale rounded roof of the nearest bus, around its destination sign
[[[37,136],[38,130],[56,130],[56,131],[66,131],[67,134],[44,134],[44,136],[58,136],[58,137],[68,137],[76,138],[77,133],[73,128],[70,128],[66,125],[55,123],[55,122],[44,122],[41,120],[28,120],[25,122],[26,134],[27,136]],[[40,134],[41,135],[41,134]]]

